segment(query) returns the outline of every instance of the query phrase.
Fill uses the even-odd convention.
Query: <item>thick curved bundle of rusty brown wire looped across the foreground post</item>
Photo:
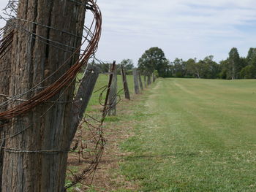
[[[72,82],[72,80],[74,80],[75,77],[77,76],[80,69],[83,66],[86,66],[91,55],[93,55],[97,50],[99,38],[101,35],[101,25],[102,25],[102,15],[97,4],[95,4],[94,1],[90,0],[86,5],[88,9],[91,10],[91,12],[94,14],[95,27],[94,27],[94,31],[91,31],[91,33],[94,34],[94,36],[90,40],[89,45],[87,45],[83,54],[80,56],[79,60],[73,66],[71,66],[67,70],[67,72],[65,72],[59,78],[59,80],[56,80],[56,82],[53,82],[53,84],[50,85],[48,88],[45,88],[44,90],[40,91],[35,96],[31,97],[31,99],[29,99],[28,101],[23,101],[23,103],[18,104],[15,107],[12,107],[10,110],[0,112],[0,120],[10,120],[12,118],[17,117],[18,115],[23,115],[24,113],[31,111],[34,107],[37,107],[39,104],[42,104],[45,101],[48,101],[57,93],[59,93],[65,86],[67,86],[69,82]],[[91,26],[94,23],[91,23]],[[7,37],[4,37],[2,42],[6,42],[8,39]],[[4,49],[4,46],[6,47],[5,43],[2,44],[2,47],[3,47],[2,49]],[[78,53],[78,51],[80,51],[80,47],[74,52],[74,54]],[[67,64],[67,62],[68,61],[64,62],[64,64]]]

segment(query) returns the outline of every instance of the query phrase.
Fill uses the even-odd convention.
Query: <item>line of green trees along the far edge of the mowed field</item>
[[[157,70],[159,77],[184,77],[206,79],[252,79],[256,78],[256,48],[250,48],[246,57],[240,57],[236,47],[230,50],[228,58],[219,62],[214,56],[203,60],[189,58],[184,61],[176,58],[170,62],[158,47],[146,50],[138,61],[138,67],[144,73]]]

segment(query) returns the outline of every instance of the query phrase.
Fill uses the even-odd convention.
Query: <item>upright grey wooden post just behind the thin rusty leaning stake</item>
[[[116,65],[116,61],[113,61],[112,65]],[[112,66],[109,68],[109,72],[111,73]],[[113,79],[110,87],[110,95],[108,99],[108,104],[110,105],[110,109],[108,111],[108,115],[115,116],[116,115],[116,98],[117,96],[117,70],[116,68],[113,71]]]

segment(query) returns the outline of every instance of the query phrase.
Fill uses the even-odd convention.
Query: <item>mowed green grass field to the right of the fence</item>
[[[256,191],[256,80],[160,79],[121,164],[140,191]]]

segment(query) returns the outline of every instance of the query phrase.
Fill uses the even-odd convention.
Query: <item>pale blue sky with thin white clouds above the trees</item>
[[[256,47],[255,0],[97,0],[102,11],[102,37],[97,58],[130,58],[137,65],[150,47],[175,58],[214,61],[227,58],[232,47],[246,56]],[[0,9],[7,4],[1,0]],[[2,23],[0,22],[0,25]]]

